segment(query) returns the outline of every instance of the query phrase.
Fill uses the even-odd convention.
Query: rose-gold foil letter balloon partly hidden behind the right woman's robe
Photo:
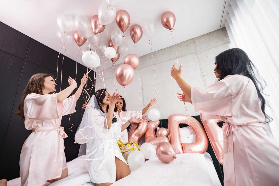
[[[202,114],[200,115],[203,126],[205,127],[206,134],[216,155],[217,160],[223,165],[223,151],[224,151],[224,136],[222,128],[217,124],[221,119],[203,120]]]

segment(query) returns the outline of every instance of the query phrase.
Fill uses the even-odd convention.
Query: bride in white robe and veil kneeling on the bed
[[[81,144],[78,156],[85,154],[91,181],[97,186],[111,185],[130,174],[117,140],[130,123],[142,119],[132,117],[121,126],[114,113],[115,104],[121,98],[118,93],[110,96],[106,89],[96,91],[75,135],[75,141]]]

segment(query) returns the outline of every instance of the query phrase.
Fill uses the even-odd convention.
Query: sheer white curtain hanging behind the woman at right
[[[248,54],[267,83],[269,125],[279,144],[279,0],[231,0],[225,26],[233,47]]]

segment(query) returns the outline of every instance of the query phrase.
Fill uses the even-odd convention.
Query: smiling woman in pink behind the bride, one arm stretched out
[[[129,121],[132,117],[139,117],[141,118],[147,110],[154,104],[156,104],[157,98],[153,98],[150,100],[149,104],[142,110],[142,111],[132,111],[126,109],[126,102],[124,98],[119,99],[114,107],[114,112],[116,116],[119,118],[120,125],[125,124],[127,121]],[[128,142],[128,131],[125,129],[121,132],[121,136],[119,138],[121,142]]]

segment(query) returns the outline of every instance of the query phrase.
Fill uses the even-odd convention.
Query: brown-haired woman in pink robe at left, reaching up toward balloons
[[[77,87],[71,77],[70,86],[59,93],[54,93],[56,83],[50,74],[34,74],[29,79],[16,112],[25,119],[25,128],[32,130],[20,153],[21,185],[44,185],[68,176],[63,139],[67,134],[60,124],[63,115],[76,112],[87,78],[84,74],[80,87],[69,98]]]

